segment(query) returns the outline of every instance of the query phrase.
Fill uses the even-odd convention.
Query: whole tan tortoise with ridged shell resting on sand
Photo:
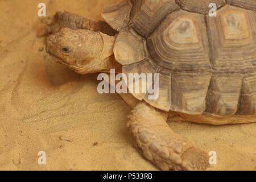
[[[175,134],[172,121],[225,125],[256,121],[256,1],[126,0],[105,21],[58,12],[46,51],[80,74],[110,69],[158,73],[159,97],[121,94],[127,126],[146,159],[163,170],[204,170],[207,152]],[[151,83],[152,84],[152,83]]]

